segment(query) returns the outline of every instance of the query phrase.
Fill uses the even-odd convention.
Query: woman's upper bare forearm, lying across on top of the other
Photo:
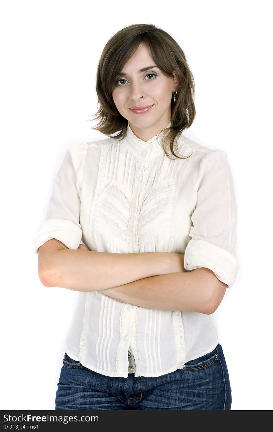
[[[47,277],[49,286],[75,291],[100,291],[167,274],[173,271],[173,263],[178,262],[177,255],[168,252],[111,254],[60,249],[54,254],[54,264],[48,270]]]

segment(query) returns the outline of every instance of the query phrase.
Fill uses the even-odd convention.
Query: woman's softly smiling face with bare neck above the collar
[[[129,121],[133,130],[162,130],[170,121],[171,100],[178,86],[176,79],[163,75],[156,66],[151,51],[141,43],[135,54],[122,68],[113,87],[113,101],[119,113]],[[145,71],[141,69],[147,68]],[[134,107],[151,106],[148,110]],[[157,133],[157,132],[153,132]]]

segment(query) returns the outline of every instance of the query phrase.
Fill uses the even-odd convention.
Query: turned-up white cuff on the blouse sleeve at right
[[[192,238],[185,249],[184,267],[186,271],[200,267],[208,268],[221,282],[227,284],[227,288],[230,288],[235,282],[238,262],[226,249],[205,240]]]

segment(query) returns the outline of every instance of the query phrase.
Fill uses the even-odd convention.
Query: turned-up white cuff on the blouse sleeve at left
[[[78,249],[82,240],[82,230],[66,219],[47,219],[38,230],[35,237],[35,253],[41,245],[51,238],[60,240],[69,249]]]

